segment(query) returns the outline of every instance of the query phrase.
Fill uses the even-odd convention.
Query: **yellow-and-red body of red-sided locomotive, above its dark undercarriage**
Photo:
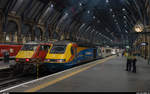
[[[44,61],[50,47],[51,43],[26,43],[16,55],[16,62],[40,63]]]

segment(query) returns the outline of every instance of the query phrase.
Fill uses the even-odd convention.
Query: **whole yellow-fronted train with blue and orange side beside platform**
[[[111,51],[108,51],[109,49],[105,48],[102,51],[100,46],[96,45],[57,41],[53,43],[52,48],[48,51],[44,64],[50,71],[66,69],[77,64],[109,56],[111,55]]]

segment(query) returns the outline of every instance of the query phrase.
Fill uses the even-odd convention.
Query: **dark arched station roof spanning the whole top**
[[[76,32],[76,39],[94,37],[108,43],[134,41],[130,33],[135,24],[149,24],[149,5],[149,0],[0,0],[5,15],[15,11],[22,21],[50,24],[52,31],[67,31],[72,37]]]

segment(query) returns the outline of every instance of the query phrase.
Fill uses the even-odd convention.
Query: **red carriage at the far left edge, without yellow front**
[[[0,44],[0,59],[4,58],[4,53],[9,52],[10,58],[15,58],[22,45],[17,44]]]

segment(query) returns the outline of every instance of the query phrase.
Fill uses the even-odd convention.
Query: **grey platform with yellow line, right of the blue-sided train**
[[[0,92],[136,92],[150,90],[150,65],[137,59],[137,73],[128,72],[126,58],[111,56]]]

